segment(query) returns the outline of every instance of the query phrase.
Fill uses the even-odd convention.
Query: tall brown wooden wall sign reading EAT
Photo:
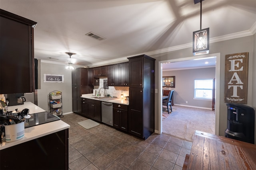
[[[247,104],[249,53],[225,56],[225,102]]]

